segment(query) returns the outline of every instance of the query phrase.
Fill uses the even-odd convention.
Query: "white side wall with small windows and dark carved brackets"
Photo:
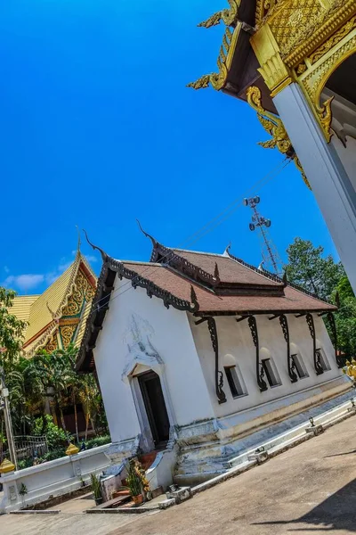
[[[341,370],[336,366],[334,348],[323,320],[314,315],[316,337],[319,341],[317,347],[325,351],[331,370],[324,374],[316,375],[312,357],[312,337],[305,317],[296,318],[294,315],[288,315],[290,342],[297,346],[309,373],[309,377],[299,379],[296,383],[291,383],[287,371],[287,344],[279,325],[279,319],[276,318],[270,321],[267,316],[256,316],[260,358],[267,357],[268,351],[271,352],[271,358],[273,358],[277,366],[282,383],[280,386],[269,387],[267,391],[260,392],[256,383],[255,345],[252,341],[247,320],[238,323],[233,317],[216,317],[219,338],[219,369],[223,371],[225,358],[227,365],[231,365],[231,357],[235,358],[248,392],[247,396],[234,399],[231,395],[226,374],[223,373],[223,391],[226,394],[227,402],[219,405],[214,390],[214,351],[207,325],[206,323],[195,325],[193,320],[194,318],[190,318],[190,325],[206,378],[210,399],[217,417],[231,415],[273,399],[303,391],[314,385],[326,383],[342,374]],[[293,346],[293,350],[295,350],[295,346]],[[266,380],[265,377],[264,380]]]

